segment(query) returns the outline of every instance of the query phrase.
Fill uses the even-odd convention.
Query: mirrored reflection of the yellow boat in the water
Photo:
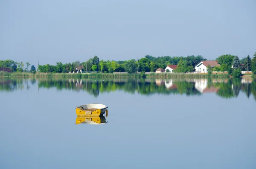
[[[77,116],[76,124],[105,124],[106,118],[104,116]]]

